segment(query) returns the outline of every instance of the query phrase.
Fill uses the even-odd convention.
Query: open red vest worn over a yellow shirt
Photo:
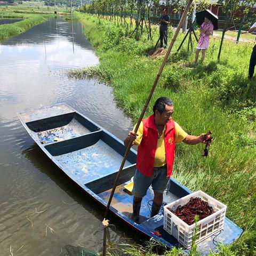
[[[158,140],[158,132],[155,125],[154,115],[142,120],[143,135],[137,153],[137,169],[147,177],[153,175],[153,167],[155,161],[156,146]],[[175,150],[175,124],[173,120],[166,123],[164,132],[165,157],[167,164],[166,177],[172,174],[172,164]]]

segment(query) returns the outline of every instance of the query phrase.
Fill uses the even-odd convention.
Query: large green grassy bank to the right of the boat
[[[100,64],[70,71],[70,77],[96,76],[108,82],[118,105],[135,122],[163,60],[161,54],[148,56],[158,28],[153,27],[153,41],[147,40],[146,31],[137,41],[128,36],[134,28],[89,14],[75,15]],[[169,28],[169,41],[172,34]],[[203,145],[177,145],[174,178],[226,204],[227,217],[243,228],[241,238],[222,249],[227,253],[216,255],[256,255],[256,81],[247,80],[253,45],[225,41],[218,63],[220,40],[211,38],[205,62],[194,67],[195,53],[186,51],[186,42],[183,50],[173,54],[183,36],[180,34],[174,44],[146,116],[152,113],[154,101],[166,96],[174,101],[173,118],[185,131],[198,135],[211,130],[214,141],[207,158],[201,156]],[[133,253],[130,255],[137,255]]]

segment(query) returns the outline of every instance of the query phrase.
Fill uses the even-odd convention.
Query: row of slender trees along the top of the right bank
[[[195,4],[197,11],[205,10],[211,5],[211,0],[196,0]],[[218,54],[219,61],[226,31],[233,27],[234,21],[241,19],[241,16],[246,17],[255,4],[255,0],[218,0],[217,4],[222,5],[222,15],[225,17]],[[161,1],[160,5],[159,0],[92,0],[91,4],[80,7],[80,11],[98,15],[118,24],[130,27],[135,25],[132,35],[134,34],[137,39],[143,33],[143,28],[146,28],[148,39],[151,39],[151,19],[156,15],[156,10],[159,13],[159,9],[168,6],[171,6],[173,13],[182,13],[186,1],[166,0],[164,3]],[[194,6],[191,12],[193,9]],[[237,15],[238,12],[239,15]]]

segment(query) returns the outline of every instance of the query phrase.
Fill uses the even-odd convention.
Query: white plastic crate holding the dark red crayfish
[[[186,222],[182,221],[167,208],[176,210],[179,205],[185,205],[188,203],[191,197],[200,197],[202,200],[208,202],[209,206],[211,206],[215,211],[213,214],[197,222],[198,232],[196,234],[196,243],[203,241],[205,238],[213,235],[223,228],[227,210],[227,206],[225,204],[222,204],[201,190],[165,205],[164,229],[167,231],[167,233],[174,236],[178,242],[187,249],[191,247],[195,224],[189,226]]]

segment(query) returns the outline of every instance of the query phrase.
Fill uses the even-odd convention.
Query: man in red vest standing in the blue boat
[[[138,146],[137,169],[132,190],[132,219],[135,222],[139,222],[141,201],[150,185],[154,190],[151,217],[158,214],[163,203],[163,192],[172,174],[175,143],[206,143],[205,133],[194,136],[183,131],[179,124],[172,120],[173,110],[173,102],[169,98],[158,98],[153,107],[154,114],[142,120],[137,134],[130,131],[124,140],[126,147],[130,141]]]

